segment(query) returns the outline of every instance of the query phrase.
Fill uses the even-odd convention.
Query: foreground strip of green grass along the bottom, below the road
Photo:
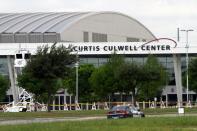
[[[197,130],[197,117],[154,117],[65,121],[0,126],[1,131],[181,131]]]

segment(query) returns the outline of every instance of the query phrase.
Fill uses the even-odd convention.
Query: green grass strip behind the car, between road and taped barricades
[[[142,110],[145,115],[160,115],[160,114],[177,114],[178,109],[166,108],[166,109],[145,109]],[[82,110],[82,111],[52,111],[48,112],[18,112],[8,113],[0,112],[1,120],[13,120],[13,119],[32,119],[32,118],[53,118],[53,117],[86,117],[86,116],[106,116],[107,110]],[[197,108],[185,108],[186,114],[196,113]]]

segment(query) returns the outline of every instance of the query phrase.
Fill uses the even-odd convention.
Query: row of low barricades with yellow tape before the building
[[[0,110],[3,111],[4,107],[8,105],[7,103],[0,103]],[[179,103],[180,104],[180,103]],[[197,102],[183,102],[181,103],[181,107],[185,108],[193,108],[197,107]],[[113,106],[116,105],[132,105],[131,102],[93,102],[93,103],[76,103],[76,104],[63,104],[63,105],[50,105],[52,110],[109,110]],[[34,105],[31,105],[34,106]],[[148,102],[136,102],[136,106],[140,109],[146,108],[178,108],[178,104],[176,102],[156,102],[156,101],[148,101]],[[37,109],[46,109],[46,104],[37,105]],[[31,107],[34,109],[33,107]],[[45,110],[38,110],[38,111],[45,111]]]

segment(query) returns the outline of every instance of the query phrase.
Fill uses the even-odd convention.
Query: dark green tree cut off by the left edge
[[[0,74],[0,101],[3,101],[6,96],[6,91],[9,89],[8,80]]]

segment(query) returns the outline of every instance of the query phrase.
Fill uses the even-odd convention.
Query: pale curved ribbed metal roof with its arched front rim
[[[145,30],[155,37],[137,20],[116,12],[1,13],[0,33],[61,33],[81,19],[105,13],[128,17],[144,27]]]

